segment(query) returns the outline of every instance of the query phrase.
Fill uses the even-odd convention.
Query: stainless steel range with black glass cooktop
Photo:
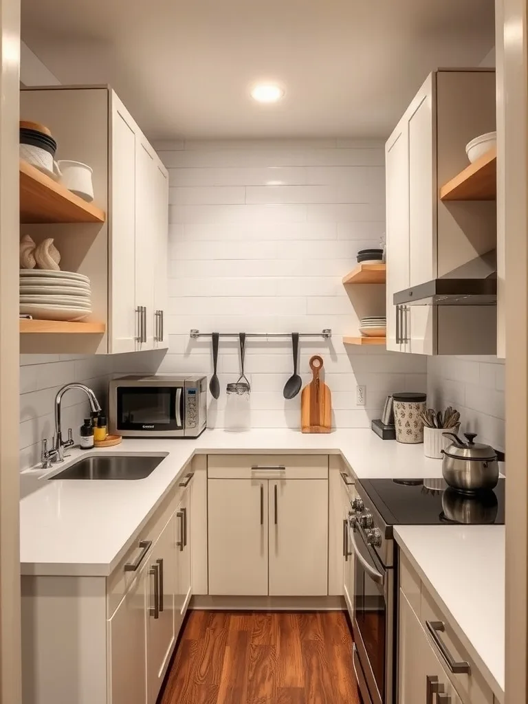
[[[363,479],[348,535],[355,555],[353,666],[363,704],[396,704],[398,551],[403,524],[504,523],[504,480],[472,496],[444,479]]]

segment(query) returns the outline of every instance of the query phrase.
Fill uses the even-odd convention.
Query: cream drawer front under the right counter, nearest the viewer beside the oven
[[[474,660],[470,658],[470,654],[467,652],[463,644],[460,643],[460,640],[453,631],[451,624],[444,617],[441,610],[434,603],[425,589],[422,589],[422,615],[420,620],[422,622],[422,627],[427,633],[429,642],[432,643],[436,656],[439,660],[441,660],[442,665],[444,665],[448,677],[453,682],[460,699],[463,701],[463,704],[494,704],[493,692],[486,684],[482,674],[480,674],[477,669],[477,665]],[[444,631],[435,631],[436,639],[439,639],[439,641],[444,644],[445,650],[451,655],[453,660],[456,662],[468,663],[470,666],[470,672],[468,674],[463,672],[451,672],[446,658],[441,653],[438,644],[435,643],[435,638],[432,637],[431,631],[427,626],[427,622],[429,622],[429,624],[434,624],[434,622],[441,622],[444,624]]]

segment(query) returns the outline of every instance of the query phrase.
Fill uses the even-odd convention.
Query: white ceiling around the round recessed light
[[[110,83],[151,139],[386,137],[430,70],[478,65],[493,0],[22,0],[62,83]],[[249,86],[287,95],[259,106]]]

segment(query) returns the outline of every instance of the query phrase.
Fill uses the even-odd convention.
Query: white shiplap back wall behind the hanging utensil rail
[[[204,332],[316,332],[301,341],[301,375],[325,358],[334,424],[367,427],[390,391],[425,390],[426,361],[380,348],[344,346],[360,315],[384,311],[382,287],[346,291],[341,277],[358,249],[384,234],[384,148],[379,142],[310,140],[169,142],[157,149],[170,172],[170,349],[159,372],[212,372]],[[370,303],[374,301],[374,303]],[[225,385],[236,381],[236,341],[220,341],[222,395],[209,425],[226,427]],[[252,427],[298,427],[300,396],[285,401],[289,341],[250,340],[246,371]],[[367,387],[356,406],[356,384]]]

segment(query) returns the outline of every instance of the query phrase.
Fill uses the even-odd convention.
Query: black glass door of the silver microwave
[[[184,434],[182,386],[117,386],[115,425],[123,435]]]

